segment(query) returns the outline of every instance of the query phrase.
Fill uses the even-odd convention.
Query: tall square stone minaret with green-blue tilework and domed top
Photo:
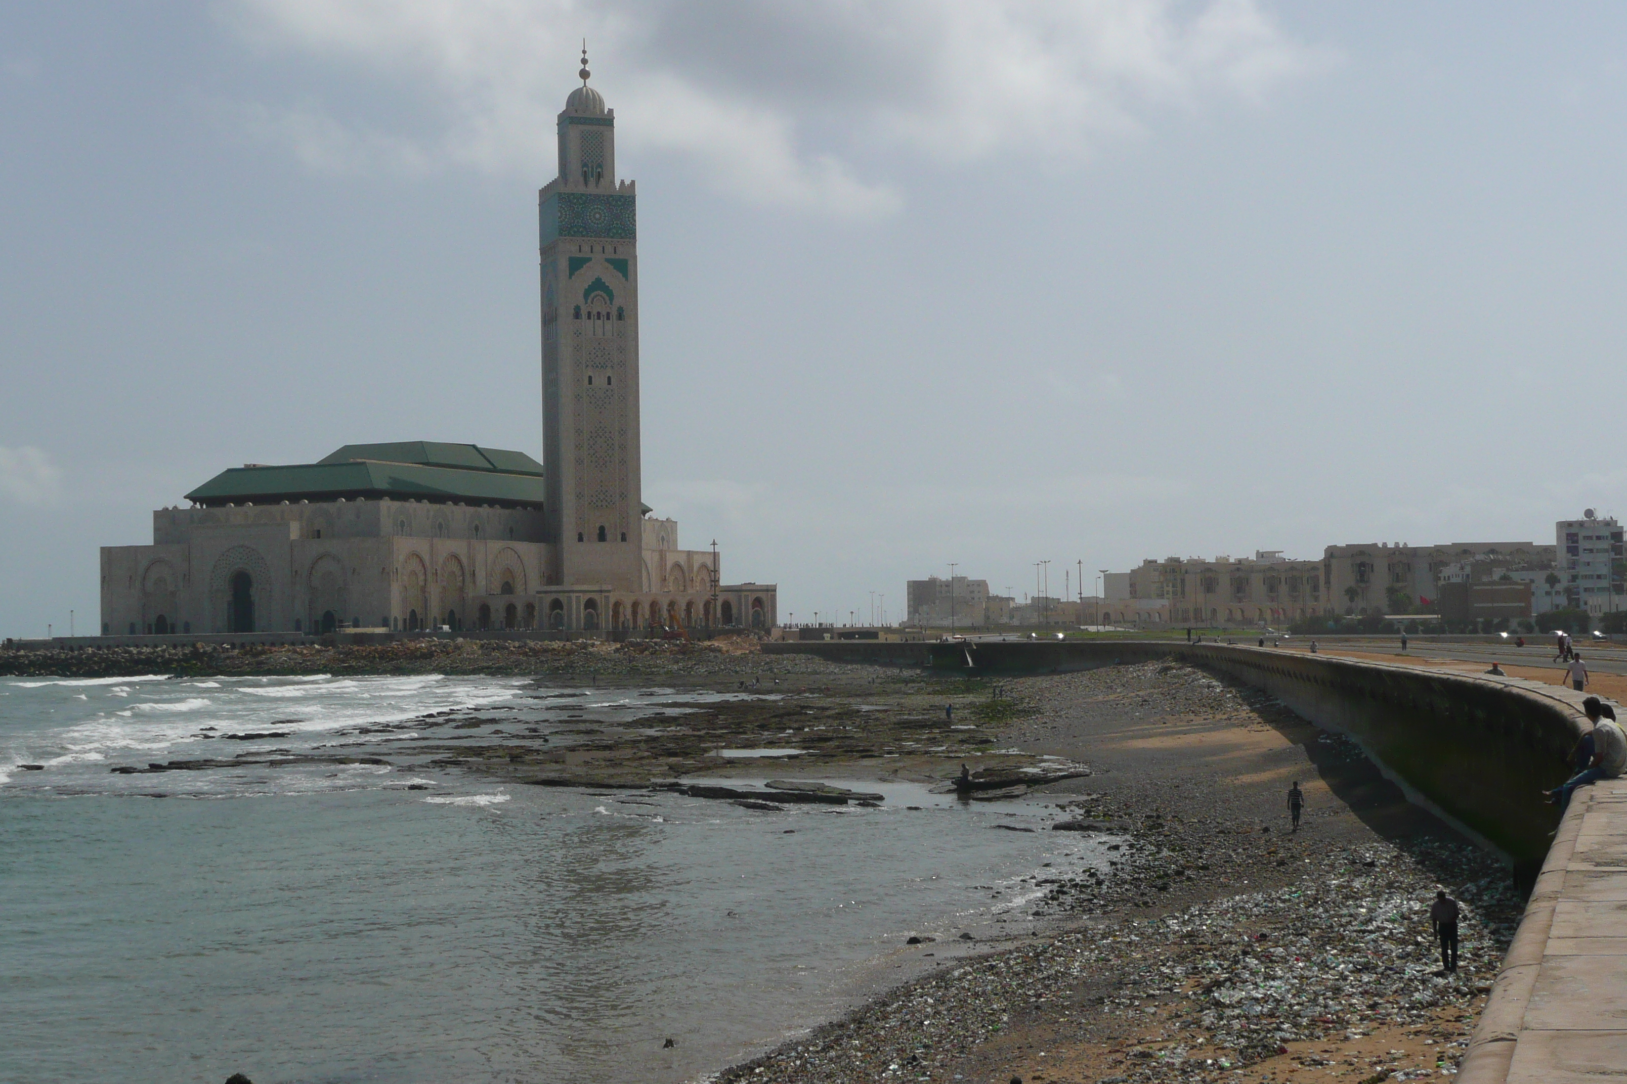
[[[615,179],[615,111],[582,85],[560,112],[560,176],[539,192],[542,444],[555,582],[643,585],[638,250]]]

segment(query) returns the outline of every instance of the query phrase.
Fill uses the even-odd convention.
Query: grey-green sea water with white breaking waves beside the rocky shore
[[[716,697],[0,678],[0,1081],[701,1081],[838,1012],[911,933],[1005,930],[1038,873],[1105,865],[1106,840],[991,830],[1043,829],[1038,803],[831,778],[887,801],[757,813],[410,751]],[[477,725],[415,731],[431,712]],[[394,764],[109,772],[272,749]]]

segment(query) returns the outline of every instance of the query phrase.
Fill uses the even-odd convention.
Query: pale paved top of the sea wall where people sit
[[[1581,710],[1580,692],[1508,683]],[[1627,1081],[1627,778],[1572,798],[1459,1079]]]

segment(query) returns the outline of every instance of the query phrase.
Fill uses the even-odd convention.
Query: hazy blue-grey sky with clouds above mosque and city
[[[226,466],[540,455],[584,37],[644,501],[781,618],[1627,515],[1620,5],[0,0],[0,635]]]

